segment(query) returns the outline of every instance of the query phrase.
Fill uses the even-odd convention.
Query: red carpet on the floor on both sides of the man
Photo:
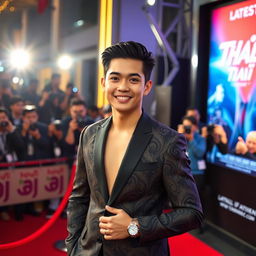
[[[0,221],[0,243],[12,242],[31,234],[40,227],[46,219],[44,216],[25,216],[24,221]],[[57,222],[41,237],[26,245],[0,250],[0,256],[65,256],[66,253],[57,250],[54,243],[66,237],[66,220]],[[169,239],[172,256],[221,256],[216,250],[186,233]]]

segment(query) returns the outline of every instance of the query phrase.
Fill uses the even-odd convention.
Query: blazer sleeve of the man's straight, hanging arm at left
[[[67,229],[68,237],[66,246],[68,255],[71,255],[73,248],[76,246],[81,232],[84,228],[85,219],[90,201],[90,188],[87,180],[86,167],[84,162],[83,148],[85,145],[85,130],[81,132],[80,142],[77,153],[76,175],[73,184],[73,190],[69,197],[67,207]]]

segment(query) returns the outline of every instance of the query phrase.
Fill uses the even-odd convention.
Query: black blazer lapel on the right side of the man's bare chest
[[[135,128],[134,134],[121,163],[108,205],[111,205],[115,201],[122,188],[125,186],[127,180],[133,173],[134,168],[144,153],[151,137],[151,120],[146,114],[143,113],[138,121],[137,127]]]

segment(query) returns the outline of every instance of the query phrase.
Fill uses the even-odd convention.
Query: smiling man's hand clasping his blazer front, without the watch
[[[106,210],[115,214],[114,216],[99,218],[100,233],[106,240],[125,239],[129,237],[127,227],[132,218],[122,209],[106,206]]]

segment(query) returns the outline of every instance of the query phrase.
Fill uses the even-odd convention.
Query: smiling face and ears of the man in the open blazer
[[[142,99],[149,94],[152,82],[143,74],[143,62],[134,59],[112,59],[102,86],[113,111],[141,111]]]

